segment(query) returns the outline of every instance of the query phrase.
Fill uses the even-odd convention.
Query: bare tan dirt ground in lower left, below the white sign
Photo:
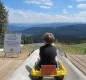
[[[24,60],[28,57],[28,53],[20,54],[18,58],[13,58],[13,55],[11,56],[4,58],[4,54],[0,52],[0,80],[6,80],[9,75],[24,62]]]

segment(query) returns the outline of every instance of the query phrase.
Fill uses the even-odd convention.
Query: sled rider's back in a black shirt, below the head
[[[40,47],[41,64],[55,64],[56,48],[51,44]]]

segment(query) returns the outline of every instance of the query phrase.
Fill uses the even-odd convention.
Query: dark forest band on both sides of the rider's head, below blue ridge
[[[65,43],[65,44],[79,44],[86,43],[86,38],[83,37],[75,37],[71,35],[55,35],[56,42]],[[23,44],[31,44],[31,43],[42,43],[42,35],[32,35],[32,36],[23,36],[22,43]]]

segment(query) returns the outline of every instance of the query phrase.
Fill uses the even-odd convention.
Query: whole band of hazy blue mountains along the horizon
[[[9,24],[9,31],[21,32],[23,34],[44,34],[52,32],[54,34],[86,34],[86,24],[81,23],[46,23],[46,24]]]

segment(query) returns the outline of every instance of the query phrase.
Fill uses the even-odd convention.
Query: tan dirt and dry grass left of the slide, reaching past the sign
[[[0,49],[0,80],[6,80],[26,60],[33,50],[39,48],[34,44],[26,44],[21,47],[21,53],[16,58],[15,53],[6,55],[4,58],[3,49]]]

